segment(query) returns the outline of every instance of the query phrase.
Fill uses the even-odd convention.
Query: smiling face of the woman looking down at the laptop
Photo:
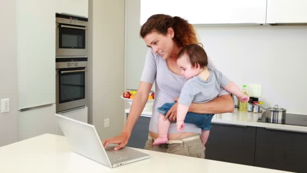
[[[163,59],[167,59],[171,56],[174,48],[174,32],[171,29],[166,35],[152,31],[148,33],[143,39],[148,48],[151,48],[157,55]]]

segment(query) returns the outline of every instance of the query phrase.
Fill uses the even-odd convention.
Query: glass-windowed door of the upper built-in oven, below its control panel
[[[87,27],[57,23],[56,56],[86,56]]]

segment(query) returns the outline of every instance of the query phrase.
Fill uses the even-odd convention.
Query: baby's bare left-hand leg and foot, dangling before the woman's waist
[[[163,120],[163,118],[164,118],[164,115],[160,113],[159,122],[158,122],[159,137],[154,141],[152,145],[165,144],[168,141],[167,134],[169,132],[169,127],[170,127],[171,122],[168,119]]]

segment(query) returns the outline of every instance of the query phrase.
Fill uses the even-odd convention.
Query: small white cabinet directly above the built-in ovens
[[[88,18],[88,0],[57,0],[57,13]]]

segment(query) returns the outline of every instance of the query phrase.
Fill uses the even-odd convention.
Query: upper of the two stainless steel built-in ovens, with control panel
[[[56,56],[87,56],[88,19],[56,14]]]

